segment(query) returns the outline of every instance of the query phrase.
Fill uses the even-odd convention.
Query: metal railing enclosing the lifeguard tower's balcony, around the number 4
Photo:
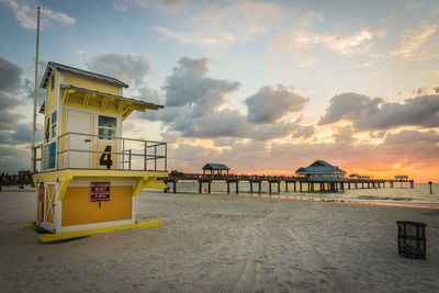
[[[167,144],[162,142],[66,133],[36,147],[36,170],[61,169],[167,170]]]

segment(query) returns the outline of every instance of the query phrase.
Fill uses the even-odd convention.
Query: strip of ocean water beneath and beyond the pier
[[[172,183],[168,183],[169,192],[172,192]],[[269,184],[267,182],[262,182],[261,184],[262,192],[261,194],[269,194]],[[313,198],[313,199],[337,199],[337,200],[378,200],[385,202],[434,202],[439,203],[439,184],[432,184],[432,194],[430,194],[430,185],[428,183],[415,183],[415,187],[410,189],[409,183],[394,183],[394,188],[391,188],[389,183],[385,184],[385,188],[380,189],[347,189],[347,184],[345,184],[345,191],[338,192],[308,192],[306,191],[307,184],[303,184],[304,191],[299,191],[299,184],[296,184],[296,192],[294,192],[293,183],[289,183],[289,191],[285,191],[285,184],[281,183],[281,192],[278,192],[278,184],[271,184],[271,195],[281,195],[281,196],[294,196],[294,198]],[[317,184],[316,184],[316,188]],[[351,184],[351,188],[354,188]],[[227,183],[226,182],[212,182],[211,185],[212,193],[226,193],[227,192]],[[207,183],[202,184],[202,192],[206,193]],[[258,194],[258,183],[254,183],[254,193]],[[198,193],[199,192],[199,182],[178,182],[177,183],[177,192],[189,192],[189,193]],[[230,194],[236,193],[236,183],[230,183]],[[248,182],[239,182],[239,193],[250,194],[250,183]]]

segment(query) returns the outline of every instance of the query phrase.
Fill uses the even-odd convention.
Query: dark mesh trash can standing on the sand
[[[410,222],[410,221],[396,221],[398,226],[398,252],[399,256],[406,258],[425,259],[426,257],[426,224]]]

